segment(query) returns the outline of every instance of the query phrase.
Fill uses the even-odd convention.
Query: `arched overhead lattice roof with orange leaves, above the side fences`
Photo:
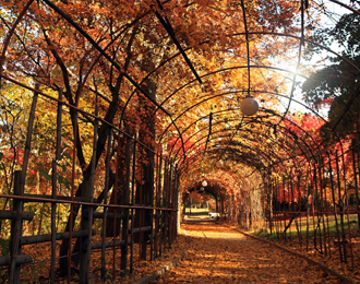
[[[302,85],[329,56],[359,71],[341,48],[320,42],[325,25],[359,14],[352,2],[43,0],[4,8],[3,79],[63,87],[69,104],[89,113],[96,94],[104,121],[129,135],[145,129],[142,142],[151,147],[145,132],[154,127],[156,151],[182,173],[229,159],[265,171],[315,159],[326,139],[305,123],[328,121],[303,103]],[[239,110],[247,94],[260,103],[253,117]],[[357,122],[349,107],[357,97],[355,91],[339,103],[344,114],[328,125],[335,139],[341,120]]]

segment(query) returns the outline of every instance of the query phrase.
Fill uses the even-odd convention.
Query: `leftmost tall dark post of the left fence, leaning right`
[[[36,90],[39,90],[39,84],[35,85]],[[36,111],[36,104],[37,104],[38,93],[34,92],[32,108],[28,117],[28,125],[27,125],[27,132],[26,132],[26,140],[25,140],[25,152],[23,158],[23,165],[21,170],[21,178],[19,184],[19,196],[24,194],[25,188],[25,180],[26,180],[26,170],[28,164],[28,157],[31,152],[31,144],[32,144],[32,135],[33,135],[33,126],[35,120],[35,111]],[[14,188],[15,190],[15,188]],[[17,190],[17,188],[16,188]],[[22,217],[21,213],[23,210],[23,201],[17,201],[16,208],[16,220],[13,222],[13,229],[11,234],[12,246],[11,246],[11,262],[10,262],[10,272],[9,272],[9,283],[19,283],[20,282],[20,272],[21,265],[16,264],[16,256],[21,252],[21,247],[19,246],[21,235],[22,235]]]

